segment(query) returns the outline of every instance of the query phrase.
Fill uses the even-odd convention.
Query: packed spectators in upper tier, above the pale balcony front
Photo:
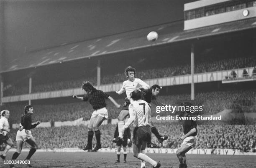
[[[148,63],[142,62],[140,68],[145,67]],[[229,58],[224,60],[204,60],[195,62],[195,73],[205,73],[205,72],[212,72],[212,71],[220,71],[220,70],[231,70],[237,68],[246,68],[246,67],[253,67],[256,65],[256,59],[254,57],[241,57],[241,58]],[[147,69],[149,68],[150,69]],[[151,65],[146,66],[145,68],[139,70],[137,72],[136,77],[145,79],[154,79],[154,78],[164,78],[164,77],[171,77],[177,75],[186,75],[191,73],[190,64],[181,64],[181,65]],[[77,78],[76,80],[61,80],[61,81],[51,81],[51,80],[43,80],[40,83],[35,81],[35,84],[32,82],[32,93],[39,93],[39,92],[47,92],[53,90],[63,90],[69,88],[79,88],[82,84],[83,80],[88,80],[93,84],[97,84],[97,77],[91,76],[84,76],[83,78]],[[122,83],[126,80],[123,69],[120,70],[119,73],[115,74],[105,74],[102,73],[101,76],[101,84],[109,84],[109,83]],[[51,79],[51,76],[49,76]],[[32,79],[33,80],[33,79]],[[11,85],[11,84],[6,84]],[[28,94],[28,82],[23,85],[20,83],[16,83],[9,87],[8,89],[4,90],[4,96],[10,95],[20,95],[20,94]]]

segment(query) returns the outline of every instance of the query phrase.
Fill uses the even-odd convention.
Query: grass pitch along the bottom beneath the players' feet
[[[22,152],[17,160],[26,158],[28,152]],[[9,152],[6,160],[11,160],[13,152]],[[148,153],[154,160],[160,160],[161,168],[178,168],[179,161],[174,154]],[[140,168],[140,161],[133,157],[132,153],[127,154],[127,163],[123,163],[123,153],[120,156],[120,163],[115,163],[116,153],[87,153],[87,152],[36,152],[31,158],[33,167],[54,167],[54,168]],[[256,156],[243,155],[187,155],[188,168],[255,168]],[[17,168],[25,168],[26,165],[15,165]],[[0,167],[9,168],[9,165],[0,161]],[[147,168],[152,166],[146,163]]]

